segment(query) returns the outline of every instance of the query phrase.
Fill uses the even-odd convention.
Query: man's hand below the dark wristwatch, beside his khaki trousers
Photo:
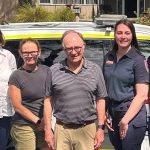
[[[104,130],[98,129],[94,140],[94,149],[99,148],[104,141]]]

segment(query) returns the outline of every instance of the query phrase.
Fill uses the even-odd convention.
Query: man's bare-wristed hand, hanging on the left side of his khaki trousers
[[[47,142],[50,150],[54,150],[55,143],[54,143],[54,133],[53,133],[52,129],[45,131],[45,141]]]

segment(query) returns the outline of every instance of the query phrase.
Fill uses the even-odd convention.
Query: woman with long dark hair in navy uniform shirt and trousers
[[[120,20],[114,29],[114,47],[104,59],[108,91],[109,136],[115,150],[140,150],[146,132],[149,74],[138,48],[135,28]],[[107,116],[108,117],[108,116]]]

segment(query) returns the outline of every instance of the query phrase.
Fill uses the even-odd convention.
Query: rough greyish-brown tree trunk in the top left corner
[[[0,0],[0,23],[9,22],[17,6],[18,0]]]

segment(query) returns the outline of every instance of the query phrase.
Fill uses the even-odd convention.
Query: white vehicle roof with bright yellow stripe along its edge
[[[150,26],[134,24],[139,39],[150,40]],[[94,22],[34,22],[0,25],[6,40],[22,38],[61,38],[66,30],[76,30],[84,38],[113,38],[113,28],[98,26]]]

